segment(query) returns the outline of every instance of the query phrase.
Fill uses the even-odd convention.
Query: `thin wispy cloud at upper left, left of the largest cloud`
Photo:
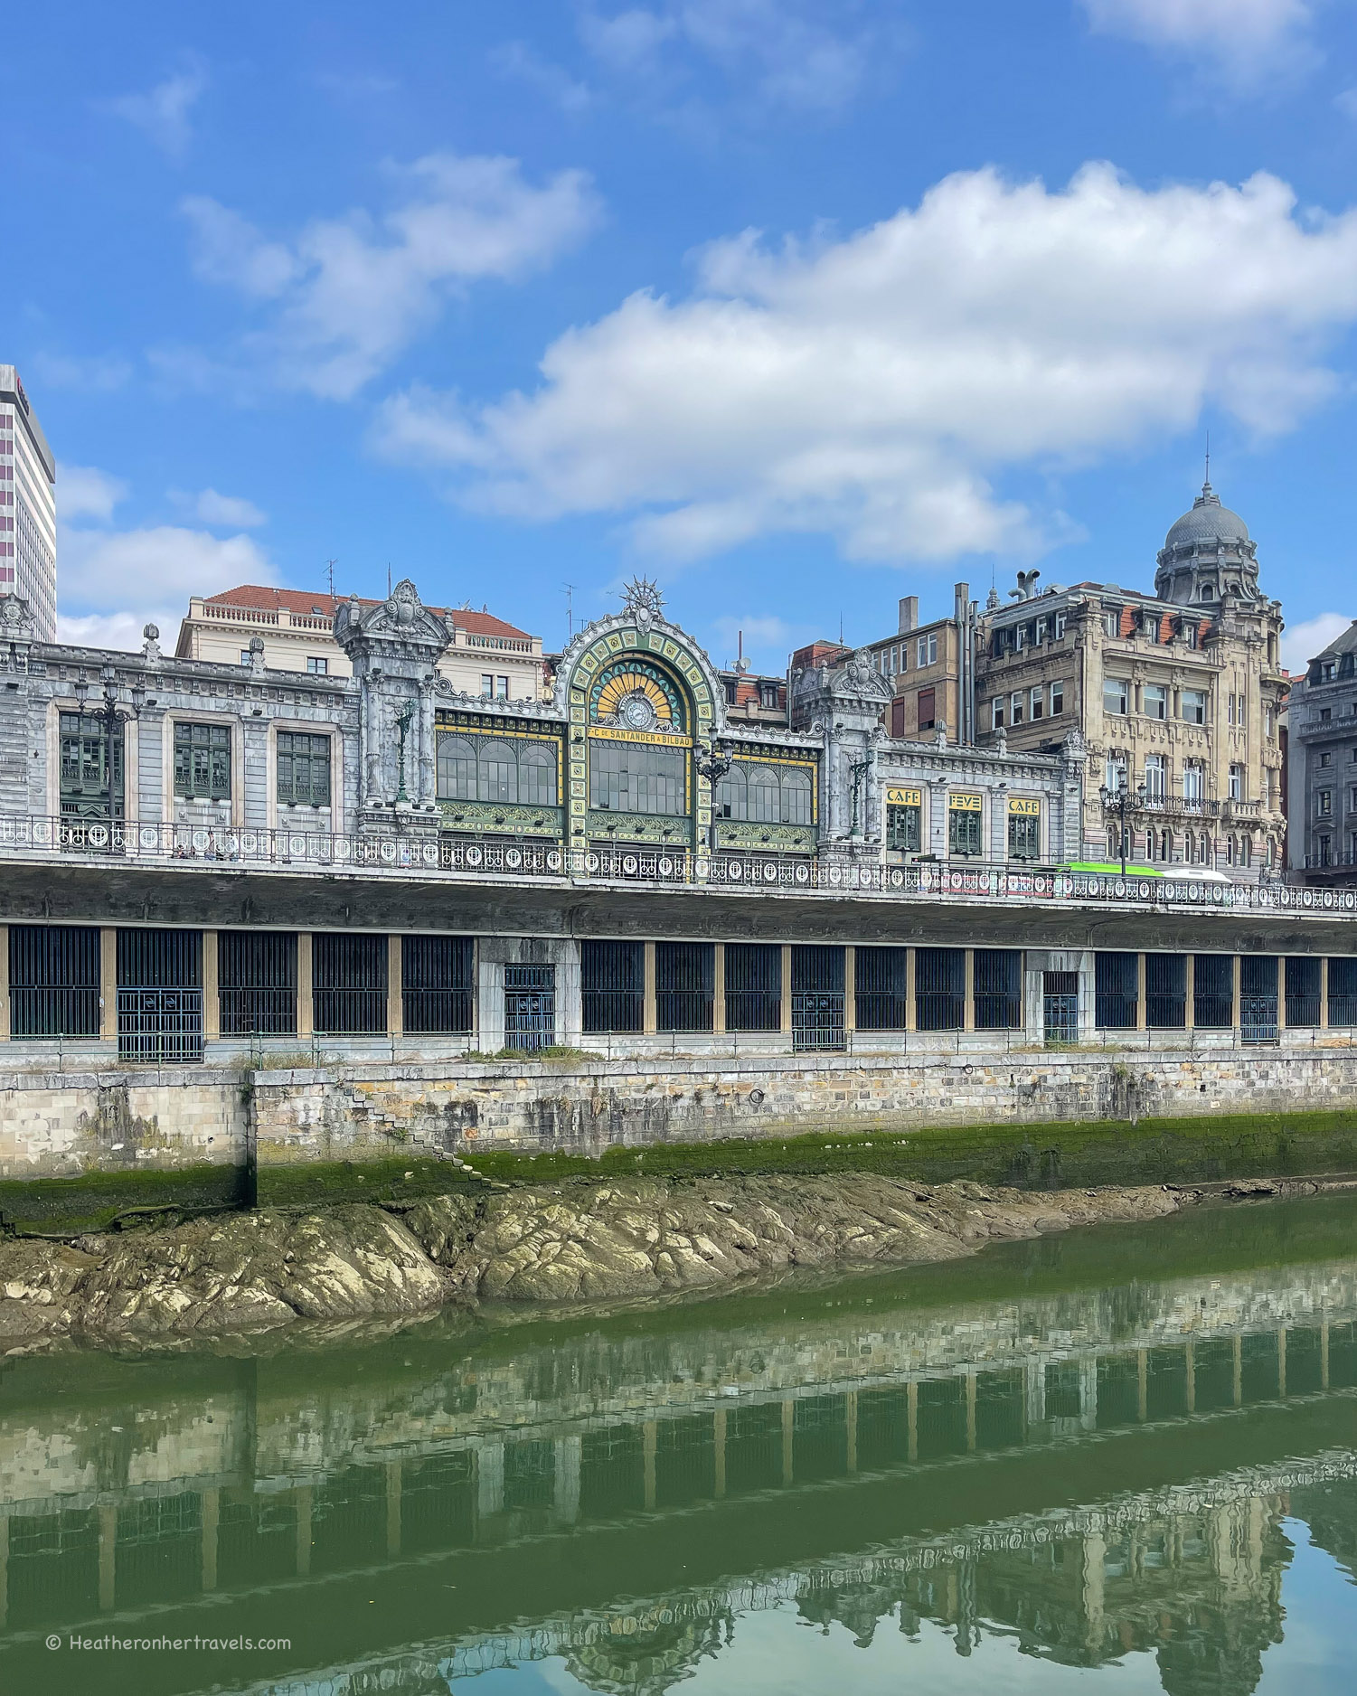
[[[407,198],[375,219],[314,219],[268,241],[237,212],[202,195],[183,202],[195,270],[266,305],[243,344],[283,387],[346,400],[480,278],[516,280],[555,259],[597,222],[584,171],[543,187],[516,159],[431,153],[392,173]]]

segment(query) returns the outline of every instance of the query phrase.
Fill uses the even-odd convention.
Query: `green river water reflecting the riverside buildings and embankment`
[[[1252,1691],[1284,1521],[1357,1552],[1354,1223],[1291,1202],[607,1319],[12,1358],[0,1686],[112,1628],[290,1649],[87,1688],[416,1696],[553,1659],[723,1689],[775,1611],[843,1655],[941,1628]]]

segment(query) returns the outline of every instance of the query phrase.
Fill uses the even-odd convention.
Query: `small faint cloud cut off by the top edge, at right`
[[[1310,0],[1084,0],[1094,29],[1209,64],[1237,85],[1313,61]]]

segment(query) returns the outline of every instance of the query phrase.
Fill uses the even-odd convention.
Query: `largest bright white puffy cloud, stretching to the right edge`
[[[1203,404],[1289,429],[1335,390],[1357,321],[1357,212],[1291,190],[1140,190],[1086,166],[1062,192],[958,173],[841,241],[718,243],[684,300],[636,293],[487,405],[414,387],[378,451],[529,519],[621,514],[670,560],[779,531],[858,560],[1033,553],[1058,512],[1009,468],[1094,463],[1194,427]]]

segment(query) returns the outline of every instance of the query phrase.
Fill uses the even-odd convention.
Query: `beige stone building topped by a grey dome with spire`
[[[1114,583],[991,597],[977,658],[984,743],[1087,745],[1084,853],[1257,875],[1282,867],[1277,658],[1281,604],[1259,589],[1255,543],[1211,485],[1169,531],[1155,592]]]

